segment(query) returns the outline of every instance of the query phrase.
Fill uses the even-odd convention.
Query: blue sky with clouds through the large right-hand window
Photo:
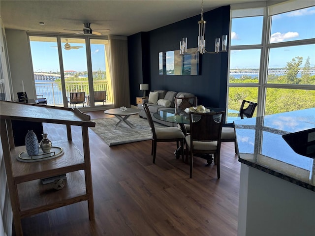
[[[262,16],[232,19],[231,45],[260,44],[262,21]],[[272,44],[315,38],[315,7],[273,16],[270,35]],[[247,68],[259,68],[259,57],[260,50],[233,50],[230,69],[244,68],[244,65],[247,65]],[[315,44],[271,48],[269,68],[285,67],[286,62],[295,57],[303,57],[303,65],[310,57],[311,67],[314,67]]]

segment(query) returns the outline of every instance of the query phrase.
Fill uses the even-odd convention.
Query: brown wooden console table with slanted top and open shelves
[[[23,236],[22,218],[81,201],[88,201],[89,219],[94,220],[88,127],[95,127],[95,122],[90,120],[90,116],[78,109],[0,101],[0,119],[16,235]],[[12,120],[65,124],[67,139],[53,143],[63,148],[64,154],[38,162],[18,161],[16,157],[26,148],[14,146]],[[83,153],[71,142],[71,125],[82,127]],[[48,191],[51,186],[41,183],[41,178],[64,173],[67,173],[67,180],[61,190]],[[25,189],[28,189],[27,193]]]

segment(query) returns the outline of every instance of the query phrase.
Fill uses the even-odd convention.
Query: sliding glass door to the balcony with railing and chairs
[[[48,105],[84,108],[112,104],[107,39],[29,38],[36,94],[46,97]],[[74,93],[84,93],[84,100],[71,100]]]

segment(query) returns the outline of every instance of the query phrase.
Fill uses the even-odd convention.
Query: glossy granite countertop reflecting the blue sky
[[[315,108],[245,118],[234,124],[241,163],[315,191],[315,141],[308,148],[309,154],[300,155],[282,137],[314,129]],[[312,132],[311,140],[314,135]],[[296,142],[300,140],[296,137]]]

